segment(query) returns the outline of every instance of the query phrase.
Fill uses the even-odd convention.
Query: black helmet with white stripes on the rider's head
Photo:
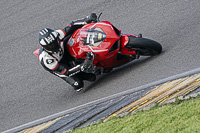
[[[60,42],[58,40],[58,33],[55,30],[45,28],[39,31],[38,39],[40,45],[50,53],[58,52]]]

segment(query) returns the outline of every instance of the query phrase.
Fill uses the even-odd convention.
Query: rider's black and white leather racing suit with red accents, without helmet
[[[49,53],[43,47],[39,49],[39,60],[45,70],[65,80],[75,90],[84,86],[83,80],[94,81],[95,74],[81,71],[82,64],[74,63],[74,58],[69,54],[66,46],[67,40],[79,28],[90,23],[88,17],[72,21],[64,29],[55,30],[59,36],[60,48],[56,53]]]

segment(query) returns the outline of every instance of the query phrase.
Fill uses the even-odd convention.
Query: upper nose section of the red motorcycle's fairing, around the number
[[[94,32],[88,30],[94,30],[99,33],[96,33],[98,38],[96,43],[93,46],[84,45],[84,41],[89,42],[94,36]],[[89,33],[89,34],[88,34]],[[103,39],[105,38],[105,39]],[[98,40],[99,39],[99,40]],[[109,52],[109,49],[112,47],[120,37],[115,33],[113,26],[108,21],[101,21],[97,23],[91,23],[83,26],[81,29],[78,29],[70,38],[68,42],[68,50],[71,55],[75,58],[81,58],[85,55],[85,52],[93,52],[101,56],[106,55]]]

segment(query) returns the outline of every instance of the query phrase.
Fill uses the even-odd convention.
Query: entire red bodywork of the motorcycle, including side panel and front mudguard
[[[94,65],[105,69],[123,65],[134,58],[118,59],[118,53],[135,55],[134,50],[125,48],[128,34],[121,35],[121,30],[108,21],[91,23],[78,29],[68,41],[69,53],[75,58],[86,59],[87,52],[95,54]],[[122,50],[122,51],[121,51]]]

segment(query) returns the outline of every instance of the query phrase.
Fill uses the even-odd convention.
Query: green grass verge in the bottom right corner
[[[164,105],[135,115],[75,129],[72,133],[200,133],[200,99]]]

